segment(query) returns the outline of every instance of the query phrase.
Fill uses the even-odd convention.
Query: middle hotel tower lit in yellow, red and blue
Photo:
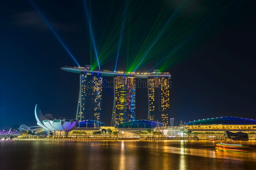
[[[111,125],[135,120],[135,83],[133,76],[115,76]]]

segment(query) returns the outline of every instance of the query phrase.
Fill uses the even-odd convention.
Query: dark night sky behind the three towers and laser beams
[[[77,62],[81,66],[90,64],[90,29],[83,1],[33,2]],[[226,4],[214,1],[213,5],[210,2],[193,1],[193,4],[188,4],[186,1],[172,1],[167,3],[167,7],[166,1],[92,1],[91,4],[96,46],[99,45],[104,28],[104,36],[107,36],[118,16],[125,16],[125,10],[126,16],[132,16],[130,26],[125,25],[123,29],[125,37],[128,35],[127,28],[130,28],[130,47],[139,47],[145,41],[156,19],[154,16],[164,7],[165,17],[160,18],[163,26],[171,16],[168,15],[173,14],[181,3],[184,4],[175,16],[179,17],[176,18],[178,21],[186,20],[194,13],[197,13],[196,18],[203,16],[201,20],[190,23],[192,27],[198,23],[200,25],[193,33],[186,34],[181,39],[186,43],[175,54],[179,59],[170,62],[163,70],[172,74],[169,117],[175,118],[175,125],[180,120],[188,122],[224,116],[256,119],[255,1],[230,1]],[[89,8],[89,1],[86,3]],[[198,12],[201,9],[207,10],[205,13]],[[57,118],[75,118],[79,75],[65,72],[60,67],[77,66],[76,62],[30,1],[1,2],[0,11],[0,129],[9,129],[13,124],[36,125],[36,104],[43,114],[51,113]],[[106,22],[109,14],[110,19]],[[122,20],[117,23],[119,22],[122,23]],[[173,27],[179,25],[171,24]],[[161,32],[163,28],[154,31]],[[182,27],[181,33],[175,34],[183,34],[183,28],[187,27]],[[173,50],[167,44],[175,39],[164,40],[172,31],[168,27],[154,44],[154,47],[158,47],[153,47],[152,50],[154,52],[165,45],[166,48],[138,67],[137,71],[150,70],[157,60]],[[117,31],[113,37],[119,40],[120,33]],[[118,41],[115,43],[118,44]],[[180,42],[174,44],[178,43]],[[116,70],[125,71],[137,54],[136,48],[133,48],[129,62],[126,62],[127,45],[127,39],[123,38]],[[117,50],[114,50],[106,58],[108,62],[101,64],[101,68],[114,70],[116,53]],[[92,55],[93,61],[94,56],[95,54]],[[136,119],[147,118],[147,104],[147,90],[136,89]],[[113,89],[103,89],[101,121],[106,125],[111,121],[112,106]]]

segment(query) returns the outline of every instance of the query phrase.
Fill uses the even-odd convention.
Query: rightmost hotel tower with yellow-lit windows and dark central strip
[[[164,126],[169,125],[169,87],[168,77],[148,78],[148,119],[159,119]]]

